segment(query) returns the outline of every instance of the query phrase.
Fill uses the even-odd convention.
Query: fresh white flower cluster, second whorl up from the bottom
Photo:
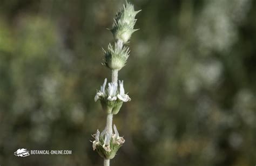
[[[125,94],[124,81],[119,80],[119,89],[116,82],[109,82],[105,89],[107,79],[104,80],[100,90],[95,95],[95,101],[100,100],[102,108],[108,113],[117,114],[123,105],[123,102],[131,101],[129,95]]]

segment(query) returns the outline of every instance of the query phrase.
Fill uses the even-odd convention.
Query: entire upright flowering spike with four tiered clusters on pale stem
[[[118,81],[118,71],[126,65],[129,58],[129,47],[124,44],[128,44],[132,33],[139,30],[134,29],[134,25],[137,22],[135,17],[140,11],[134,11],[133,5],[126,1],[123,9],[117,12],[112,28],[109,29],[116,40],[115,44],[114,46],[109,44],[106,50],[102,49],[104,53],[102,64],[112,70],[112,82],[104,79],[103,85],[95,95],[95,101],[100,101],[103,110],[107,113],[107,119],[105,129],[101,133],[97,130],[96,134],[93,134],[95,140],[92,141],[92,149],[104,158],[104,163],[109,163],[106,160],[114,158],[125,142],[124,138],[119,136],[116,125],[112,126],[112,119],[113,115],[119,112],[123,102],[131,101],[129,95],[125,94],[124,81]]]

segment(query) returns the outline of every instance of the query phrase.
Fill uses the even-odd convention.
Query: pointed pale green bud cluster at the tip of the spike
[[[120,10],[116,18],[114,18],[114,23],[111,29],[113,33],[113,37],[116,40],[122,40],[123,43],[127,43],[127,41],[131,38],[133,32],[138,29],[133,29],[137,19],[135,16],[139,11],[134,11],[133,5],[126,2],[124,5],[124,9]]]

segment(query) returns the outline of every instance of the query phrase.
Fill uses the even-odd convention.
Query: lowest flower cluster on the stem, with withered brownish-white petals
[[[92,141],[93,150],[96,150],[105,159],[114,158],[117,150],[125,142],[124,138],[119,136],[116,125],[113,128],[113,134],[106,132],[106,129],[104,129],[102,133],[97,130],[96,134],[92,135],[95,138],[95,141]]]

